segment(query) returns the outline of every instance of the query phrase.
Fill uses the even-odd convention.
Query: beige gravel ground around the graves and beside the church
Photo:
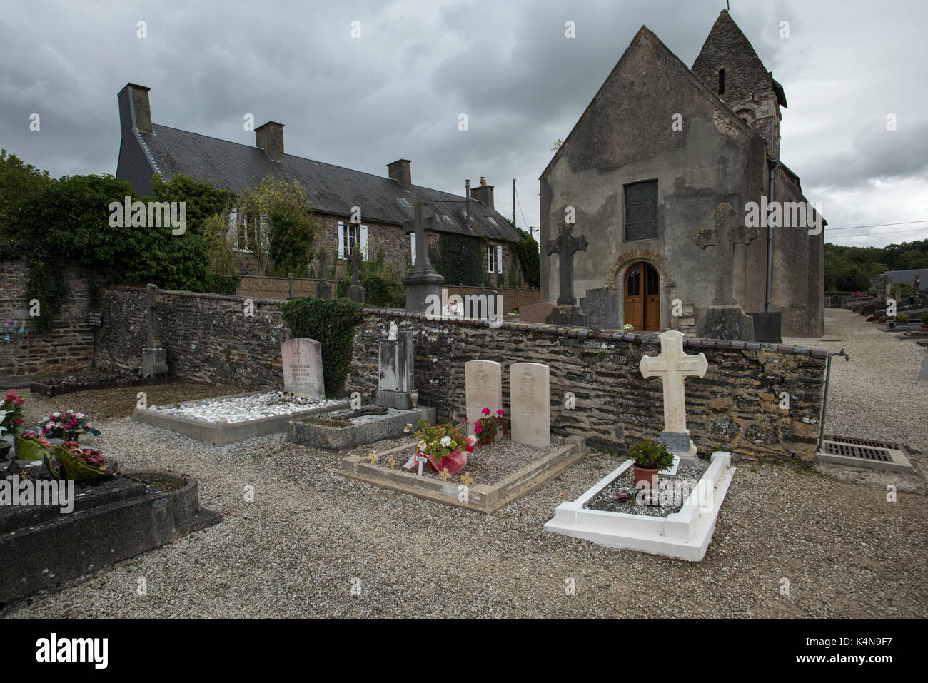
[[[857,323],[859,316],[829,313],[829,335],[843,337],[853,358],[834,362],[829,431],[924,448],[924,415],[912,416],[910,407],[920,397],[909,393],[909,380],[893,385],[917,375],[921,356],[882,334],[870,342],[878,333]],[[836,320],[839,329],[831,329]],[[858,334],[865,325],[869,331]],[[868,372],[868,364],[883,369]],[[856,367],[870,380],[855,380]],[[171,400],[176,386],[151,387],[149,402]],[[200,388],[199,395],[209,393]],[[127,406],[123,415],[135,404],[135,389],[89,394],[52,405],[95,416],[101,394],[107,405]],[[190,394],[197,393],[187,388],[174,400]],[[42,401],[34,417],[48,407]],[[5,617],[870,619],[924,617],[928,604],[928,497],[903,492],[889,503],[884,490],[812,470],[739,464],[705,559],[690,563],[542,529],[562,501],[618,466],[607,454],[592,453],[531,495],[483,515],[344,479],[335,473],[341,455],[280,435],[213,446],[127,418],[95,417],[103,434],[88,445],[124,469],[197,477],[200,505],[222,512],[225,522],[39,594]],[[249,483],[251,503],[243,496]],[[139,596],[143,577],[148,595]],[[565,594],[568,578],[575,595]],[[784,578],[789,595],[780,595]]]

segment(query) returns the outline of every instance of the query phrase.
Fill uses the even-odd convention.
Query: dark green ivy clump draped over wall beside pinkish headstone
[[[305,297],[281,303],[280,310],[291,337],[308,337],[322,345],[326,396],[341,396],[354,352],[354,327],[364,318],[361,304]]]

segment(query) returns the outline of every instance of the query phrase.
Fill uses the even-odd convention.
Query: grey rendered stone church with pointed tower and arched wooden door
[[[691,69],[642,26],[541,174],[543,301],[560,293],[545,245],[574,213],[589,243],[574,294],[609,288],[619,325],[707,336],[728,290],[745,312],[780,312],[783,335],[821,336],[824,222],[811,208],[818,228],[787,220],[806,198],[780,161],[780,108],[783,87],[727,11]],[[761,225],[746,228],[751,202]],[[785,219],[768,218],[778,202]],[[730,229],[716,229],[726,203]]]

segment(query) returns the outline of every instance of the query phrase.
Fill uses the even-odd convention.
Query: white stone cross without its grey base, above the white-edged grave
[[[660,335],[661,354],[641,357],[638,367],[644,377],[660,377],[664,382],[664,432],[687,431],[686,394],[683,380],[704,377],[709,367],[705,354],[683,353],[683,332],[668,329]]]

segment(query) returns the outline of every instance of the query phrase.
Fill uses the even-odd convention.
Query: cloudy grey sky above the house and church
[[[116,94],[151,88],[154,122],[247,145],[283,122],[290,154],[463,194],[538,225],[538,175],[646,24],[691,65],[725,0],[8,3],[0,147],[53,175],[116,172]],[[928,238],[928,60],[920,0],[731,0],[783,84],[781,158],[822,202],[829,241]],[[148,37],[137,37],[137,22]],[[573,20],[576,37],[566,38]],[[352,22],[360,22],[353,38]],[[789,21],[789,38],[780,22]],[[31,132],[30,115],[41,116]],[[469,130],[458,131],[467,113]],[[887,114],[897,130],[886,130]],[[904,231],[904,232],[901,232]],[[861,235],[860,237],[848,237]],[[842,236],[838,238],[838,236]]]

